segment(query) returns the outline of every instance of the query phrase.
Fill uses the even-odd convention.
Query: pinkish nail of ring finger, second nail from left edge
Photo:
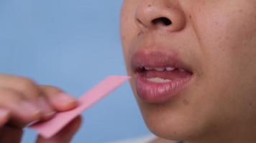
[[[28,112],[31,115],[41,114],[41,110],[38,107],[35,107],[35,104],[31,102],[24,101],[22,102],[22,112]]]

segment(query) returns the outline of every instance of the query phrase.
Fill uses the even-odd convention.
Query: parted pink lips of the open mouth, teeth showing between
[[[149,103],[169,102],[193,77],[193,71],[178,55],[160,50],[140,50],[132,55],[137,94]]]

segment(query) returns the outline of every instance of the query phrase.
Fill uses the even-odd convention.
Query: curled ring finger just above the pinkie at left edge
[[[23,127],[25,124],[41,118],[40,109],[23,97],[21,93],[0,88],[0,95],[0,107],[9,111],[12,125]]]

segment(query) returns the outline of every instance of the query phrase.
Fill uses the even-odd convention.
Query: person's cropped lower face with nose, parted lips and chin
[[[152,132],[188,140],[255,132],[255,0],[124,0],[121,30]]]

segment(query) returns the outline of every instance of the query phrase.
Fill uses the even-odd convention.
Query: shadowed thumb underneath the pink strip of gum
[[[43,137],[37,138],[37,143],[68,143],[78,129],[81,127],[82,118],[81,116],[76,117],[70,124],[64,127],[58,134],[50,139],[44,139]]]

